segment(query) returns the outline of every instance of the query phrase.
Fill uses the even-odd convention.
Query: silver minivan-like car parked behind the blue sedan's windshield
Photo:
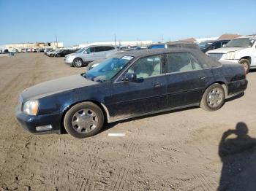
[[[112,55],[117,51],[117,48],[113,45],[91,45],[66,55],[64,61],[71,66],[81,67],[90,62],[107,58],[108,55]]]

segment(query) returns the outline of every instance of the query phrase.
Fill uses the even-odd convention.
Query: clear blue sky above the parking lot
[[[256,33],[256,0],[0,0],[0,44]]]

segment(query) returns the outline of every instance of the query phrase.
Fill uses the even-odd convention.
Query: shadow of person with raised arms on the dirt
[[[256,139],[248,135],[244,122],[227,130],[219,143],[222,174],[218,190],[256,190]],[[231,135],[236,138],[228,138]]]

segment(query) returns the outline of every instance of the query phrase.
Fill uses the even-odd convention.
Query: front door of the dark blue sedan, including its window
[[[133,63],[111,87],[110,117],[121,119],[165,109],[166,79],[162,66],[162,55],[140,58]],[[137,79],[122,81],[126,73],[136,74]]]

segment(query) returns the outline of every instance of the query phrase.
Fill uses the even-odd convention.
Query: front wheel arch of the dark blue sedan
[[[72,106],[75,106],[76,104],[80,104],[80,103],[83,103],[83,102],[91,102],[91,103],[94,103],[96,104],[97,106],[99,106],[100,109],[102,109],[102,112],[103,112],[103,115],[104,115],[104,120],[105,122],[108,122],[109,119],[110,119],[110,116],[109,116],[109,112],[108,112],[108,108],[107,106],[105,106],[105,104],[101,103],[100,101],[95,101],[95,100],[83,100],[83,101],[77,101],[69,106],[67,106],[63,113],[62,113],[62,116],[61,116],[61,125],[60,125],[60,131],[61,133],[64,133],[66,130],[64,128],[64,117],[66,115],[66,113],[69,111],[69,109],[72,108]]]

